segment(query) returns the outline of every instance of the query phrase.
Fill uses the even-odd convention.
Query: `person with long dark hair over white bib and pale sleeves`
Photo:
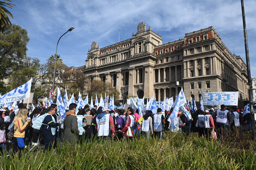
[[[142,121],[142,131],[147,135],[147,141],[149,140],[150,134],[153,135],[153,121],[150,116],[151,114],[153,114],[151,110],[146,110]]]

